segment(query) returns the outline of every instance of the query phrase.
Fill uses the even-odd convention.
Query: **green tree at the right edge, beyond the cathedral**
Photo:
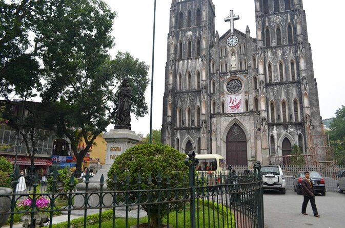
[[[338,165],[345,165],[345,106],[337,109],[328,131],[330,144],[334,148],[334,159]]]

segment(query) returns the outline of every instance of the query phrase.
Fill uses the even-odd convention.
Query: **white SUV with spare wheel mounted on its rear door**
[[[264,190],[278,190],[280,194],[285,194],[285,177],[278,165],[262,165],[262,187]]]

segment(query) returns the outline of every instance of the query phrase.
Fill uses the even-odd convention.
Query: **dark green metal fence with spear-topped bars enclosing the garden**
[[[158,175],[154,177],[158,188],[151,189],[152,177],[141,180],[139,175],[136,191],[117,191],[116,175],[113,176],[114,189],[104,188],[102,176],[95,190],[94,186],[89,187],[89,175],[86,175],[85,191],[57,193],[54,191],[57,185],[55,170],[50,174],[53,191],[39,192],[36,175],[31,193],[0,195],[0,198],[11,202],[10,210],[0,213],[9,216],[10,227],[13,227],[16,214],[22,215],[25,227],[263,227],[259,163],[255,165],[254,172],[223,175],[198,174],[194,153],[189,153],[185,162],[189,166],[189,180],[170,183],[169,177],[163,179]],[[20,177],[18,168],[12,176],[15,189]],[[149,189],[140,189],[141,181],[147,181]],[[160,187],[163,182],[167,188]],[[126,183],[128,186],[128,179]],[[73,176],[69,185],[74,185]],[[84,216],[78,222],[72,221],[71,214],[80,210]],[[87,216],[90,214],[88,210],[97,210],[98,213],[91,218]],[[66,221],[52,224],[54,215],[58,213],[65,214]],[[147,226],[143,226],[144,223]]]

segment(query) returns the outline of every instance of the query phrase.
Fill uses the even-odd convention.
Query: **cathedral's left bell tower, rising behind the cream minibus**
[[[210,144],[207,59],[214,18],[212,0],[172,0],[161,138],[181,152],[206,153]]]

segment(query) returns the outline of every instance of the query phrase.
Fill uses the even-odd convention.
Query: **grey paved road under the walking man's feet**
[[[265,228],[345,227],[345,194],[327,192],[326,196],[315,197],[320,218],[314,217],[310,202],[308,215],[301,214],[303,196],[293,191],[279,195],[275,191],[265,191],[263,203],[265,210]]]

